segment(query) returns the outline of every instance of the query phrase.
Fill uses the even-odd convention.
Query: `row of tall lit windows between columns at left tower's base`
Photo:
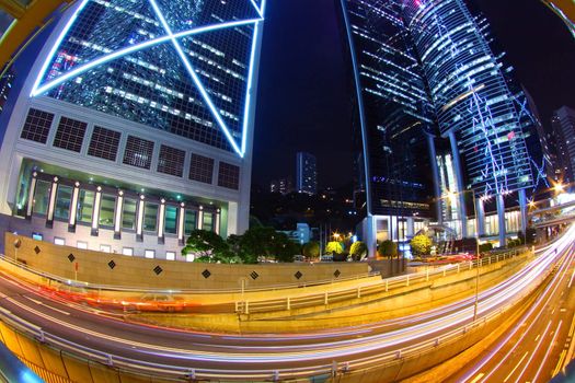
[[[33,213],[37,216],[46,216],[48,212],[48,204],[50,197],[51,183],[43,179],[36,182],[34,190],[34,207]],[[116,210],[116,196],[111,194],[102,194],[100,200],[100,211],[97,214],[97,227],[108,228],[114,227],[114,217]],[[54,219],[59,221],[68,221],[71,212],[72,187],[67,185],[58,185],[56,190],[56,204],[54,206]],[[95,192],[88,189],[80,189],[78,194],[78,202],[76,207],[76,221],[79,223],[92,224],[94,216],[94,199]],[[120,214],[120,230],[136,230],[137,225],[137,205],[138,201],[134,198],[124,197],[122,202]],[[143,204],[143,222],[142,230],[147,232],[157,232],[160,220],[163,220],[164,232],[166,234],[177,233],[177,211],[179,207],[174,205],[166,205],[164,217],[158,217],[159,204],[153,201],[146,201]],[[212,212],[204,211],[204,219],[202,228],[204,230],[214,231],[215,217]],[[184,233],[188,235],[197,228],[198,211],[196,209],[185,209],[184,216]]]

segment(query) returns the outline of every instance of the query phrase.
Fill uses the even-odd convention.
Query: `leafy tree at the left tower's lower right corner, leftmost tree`
[[[229,246],[223,239],[206,230],[194,230],[189,234],[186,245],[182,248],[182,255],[193,255],[207,262],[226,262],[226,259],[231,258]]]

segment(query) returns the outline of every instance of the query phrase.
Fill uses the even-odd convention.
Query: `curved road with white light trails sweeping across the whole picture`
[[[548,289],[552,289],[556,276],[566,275],[565,269],[573,264],[574,255],[570,249],[574,239],[575,228],[571,228],[552,247],[540,252],[536,260],[525,269],[507,281],[483,291],[479,299],[478,320],[481,322],[515,302],[524,301],[540,285],[543,276],[555,269],[556,259],[564,259],[559,271],[555,269],[552,278],[545,279],[547,282],[552,281],[547,285]],[[97,350],[99,353],[110,356],[113,364],[129,360],[142,365],[161,365],[166,371],[209,370],[211,376],[220,374],[237,379],[269,376],[269,371],[278,371],[280,378],[313,375],[325,369],[329,371],[335,364],[344,365],[350,371],[379,365],[401,359],[411,349],[433,348],[446,337],[460,336],[461,329],[465,333],[472,323],[474,312],[474,299],[471,298],[418,315],[357,327],[308,334],[241,336],[169,330],[126,323],[91,309],[50,300],[36,288],[24,286],[7,275],[0,276],[0,307],[41,327],[51,336],[46,336],[48,341],[66,339],[67,343]],[[564,301],[566,298],[563,298]],[[563,306],[557,305],[553,314],[559,315],[560,321],[567,313],[562,309]],[[551,355],[556,350],[549,348],[547,340],[550,336],[563,339],[561,332],[568,330],[571,323],[566,324],[566,318],[562,321],[556,336],[553,333],[555,325],[544,324],[540,329],[541,336],[537,339],[540,345],[539,353],[533,358],[528,355],[526,360],[541,360],[540,352],[543,352],[543,356],[549,353],[552,364]],[[539,318],[532,323],[539,323]],[[525,376],[530,373],[530,370],[517,370],[517,373]],[[547,364],[541,368],[543,370],[548,370]],[[473,381],[481,373],[484,375],[480,379],[491,379],[483,370],[471,373],[469,379]],[[542,376],[542,372],[539,374]],[[498,381],[499,378],[494,375],[493,379]]]

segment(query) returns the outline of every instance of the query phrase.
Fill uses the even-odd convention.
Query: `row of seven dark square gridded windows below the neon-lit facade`
[[[31,108],[22,129],[21,138],[46,143],[54,120],[54,114]],[[88,124],[68,117],[60,117],[53,141],[56,148],[80,153]],[[116,161],[122,134],[101,126],[94,126],[88,147],[88,155]],[[126,165],[150,170],[156,142],[128,135],[122,162]],[[186,152],[181,149],[160,144],[157,172],[183,177]],[[192,153],[188,178],[212,184],[214,159]],[[240,167],[219,162],[218,186],[238,190],[240,187]]]

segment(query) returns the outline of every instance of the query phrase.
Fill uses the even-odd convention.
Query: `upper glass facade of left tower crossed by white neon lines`
[[[82,0],[31,96],[80,104],[243,156],[264,9],[265,0]]]

